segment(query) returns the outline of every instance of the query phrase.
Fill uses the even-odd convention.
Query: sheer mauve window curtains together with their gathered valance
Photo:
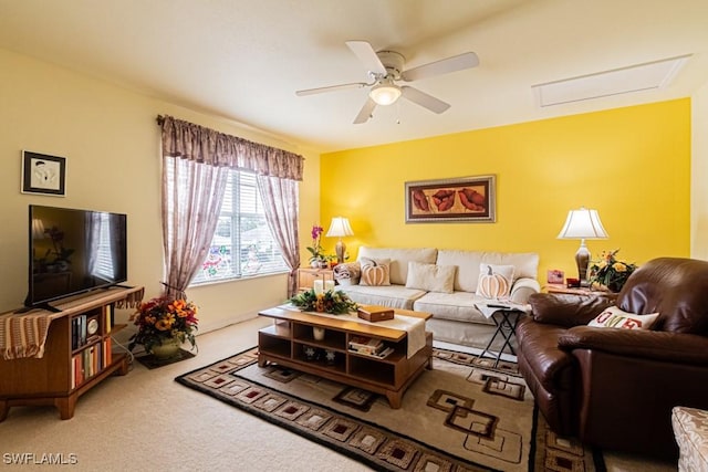
[[[259,180],[264,176],[269,181],[270,178],[281,181],[282,189],[285,189],[282,193],[289,196],[288,202],[272,198],[266,204],[270,213],[279,216],[275,217],[275,223],[271,222],[271,216],[268,221],[275,240],[279,244],[284,244],[281,245],[281,251],[290,266],[290,254],[293,251],[295,254],[300,252],[296,182],[302,180],[303,157],[170,116],[158,116],[157,120],[163,128],[163,237],[167,279],[164,282],[165,295],[186,297],[187,285],[207,256],[229,169],[253,171]],[[289,181],[291,183],[283,183]],[[267,187],[278,186],[268,183]],[[289,187],[294,187],[294,190]],[[289,223],[293,218],[294,230]],[[292,231],[292,234],[282,238],[278,235],[280,231]],[[294,281],[292,271],[298,262],[291,266],[291,285]]]

